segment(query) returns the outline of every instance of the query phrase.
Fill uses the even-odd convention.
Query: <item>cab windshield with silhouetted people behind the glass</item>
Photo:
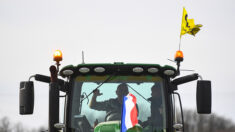
[[[166,129],[163,79],[151,75],[76,77],[72,89],[70,127],[73,131],[91,132],[100,123],[121,121],[122,99],[127,93],[136,97],[138,125],[143,132]]]

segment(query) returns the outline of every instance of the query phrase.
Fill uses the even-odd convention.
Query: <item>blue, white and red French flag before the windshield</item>
[[[137,112],[136,97],[129,93],[123,98],[121,132],[126,132],[138,123]]]

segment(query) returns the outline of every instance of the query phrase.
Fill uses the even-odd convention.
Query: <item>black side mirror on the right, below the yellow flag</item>
[[[197,81],[197,112],[199,114],[211,113],[211,81]]]

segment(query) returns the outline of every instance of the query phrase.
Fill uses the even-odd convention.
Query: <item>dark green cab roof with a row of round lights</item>
[[[176,76],[176,69],[172,66],[159,64],[143,64],[143,63],[90,63],[78,64],[77,66],[67,65],[63,67],[59,74],[62,77],[78,75],[163,75],[169,77]]]

